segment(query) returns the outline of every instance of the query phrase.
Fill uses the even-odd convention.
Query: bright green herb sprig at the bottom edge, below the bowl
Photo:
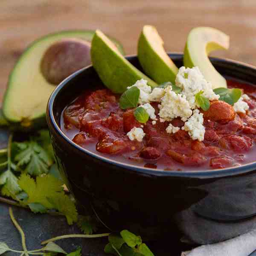
[[[119,234],[110,234],[109,243],[105,246],[105,253],[117,256],[154,256],[140,236],[122,230]]]

